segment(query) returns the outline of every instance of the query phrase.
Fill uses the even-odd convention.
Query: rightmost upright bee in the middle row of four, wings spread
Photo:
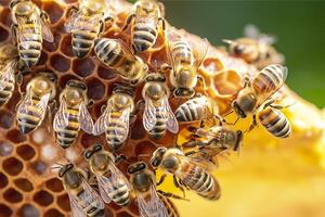
[[[145,101],[143,126],[155,139],[160,139],[166,133],[166,129],[172,133],[179,131],[178,120],[168,102],[169,89],[162,75],[150,74],[145,78],[142,90]]]

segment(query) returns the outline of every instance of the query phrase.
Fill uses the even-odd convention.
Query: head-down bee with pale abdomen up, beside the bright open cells
[[[203,78],[198,75],[197,69],[203,63],[208,52],[208,41],[204,39],[199,52],[194,51],[191,46],[182,40],[177,39],[169,44],[169,60],[171,71],[169,79],[173,86],[173,95],[177,98],[192,98],[195,94],[194,88]],[[168,67],[166,68],[168,69]]]

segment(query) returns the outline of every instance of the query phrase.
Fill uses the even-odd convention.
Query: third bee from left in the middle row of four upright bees
[[[133,94],[131,88],[117,86],[107,100],[107,105],[102,107],[102,115],[93,128],[95,136],[106,132],[106,140],[115,151],[129,135],[130,115],[134,112]]]

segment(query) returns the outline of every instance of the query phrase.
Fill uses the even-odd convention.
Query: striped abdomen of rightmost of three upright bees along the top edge
[[[152,48],[157,39],[157,28],[146,23],[135,23],[132,29],[133,46],[139,52]]]

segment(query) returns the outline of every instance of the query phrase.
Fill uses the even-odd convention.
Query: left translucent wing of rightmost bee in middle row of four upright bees
[[[145,95],[145,106],[143,112],[143,127],[146,131],[151,131],[157,122],[156,107],[151,98]]]

